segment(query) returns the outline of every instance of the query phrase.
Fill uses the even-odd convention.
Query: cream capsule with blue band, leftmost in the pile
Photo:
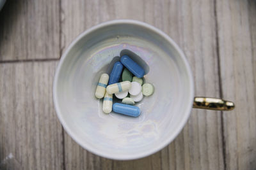
[[[101,99],[102,97],[104,97],[104,94],[106,92],[106,87],[108,85],[108,80],[109,80],[108,74],[106,73],[101,74],[99,83],[95,91],[95,96],[98,99]]]

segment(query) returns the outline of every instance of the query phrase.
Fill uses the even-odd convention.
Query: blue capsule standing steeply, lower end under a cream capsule
[[[109,76],[109,81],[108,81],[109,85],[118,83],[120,76],[122,74],[122,71],[123,71],[123,67],[124,66],[121,62],[119,62],[119,61],[115,62],[113,69]]]

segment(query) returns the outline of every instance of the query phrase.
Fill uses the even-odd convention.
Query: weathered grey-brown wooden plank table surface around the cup
[[[175,141],[139,160],[77,145],[54,111],[54,71],[79,33],[117,18],[170,35],[191,64],[195,95],[236,109],[194,109]],[[0,12],[0,169],[256,169],[255,82],[254,0],[8,0]]]

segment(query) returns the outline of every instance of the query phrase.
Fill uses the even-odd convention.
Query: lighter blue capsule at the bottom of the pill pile
[[[113,111],[131,117],[138,117],[140,115],[140,108],[129,104],[115,103],[113,104]]]

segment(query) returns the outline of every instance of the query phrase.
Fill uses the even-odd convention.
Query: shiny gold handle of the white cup
[[[211,97],[195,97],[193,108],[229,111],[235,108],[235,104],[231,101]]]

